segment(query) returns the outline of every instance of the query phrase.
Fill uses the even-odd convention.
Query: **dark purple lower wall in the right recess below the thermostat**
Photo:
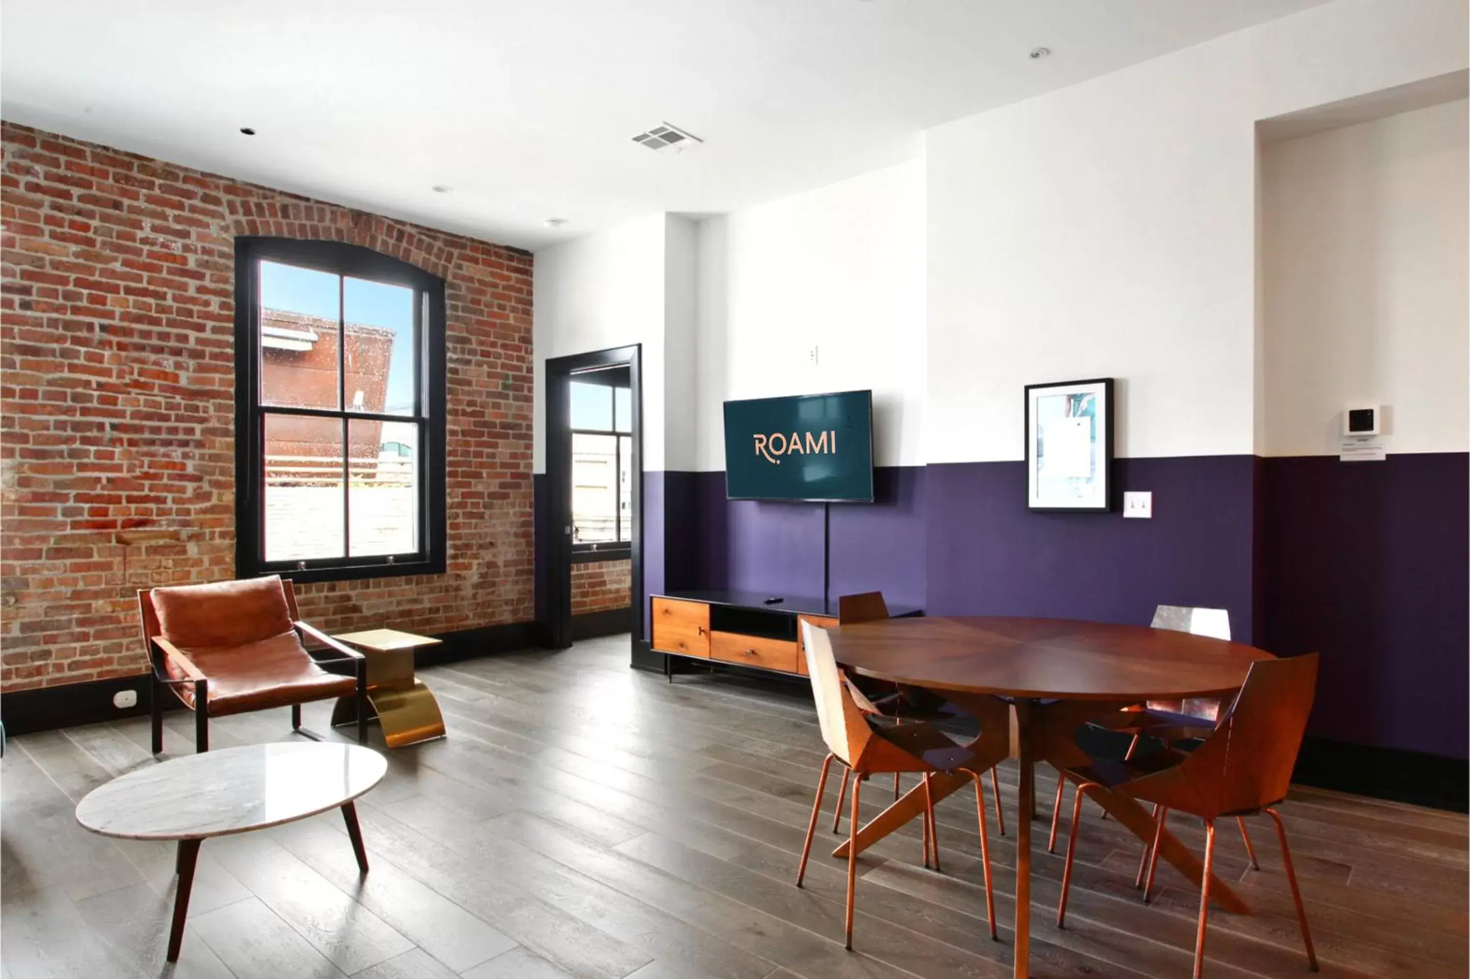
[[[1264,459],[1261,646],[1317,650],[1310,732],[1466,757],[1470,456]]]

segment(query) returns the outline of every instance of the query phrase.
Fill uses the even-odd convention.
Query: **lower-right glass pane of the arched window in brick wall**
[[[417,423],[354,418],[347,423],[347,442],[348,553],[363,558],[417,552]]]

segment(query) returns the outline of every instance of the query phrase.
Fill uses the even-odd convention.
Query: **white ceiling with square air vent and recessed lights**
[[[0,112],[537,248],[831,183],[928,126],[1322,1],[6,0]],[[663,120],[706,144],[632,142]]]

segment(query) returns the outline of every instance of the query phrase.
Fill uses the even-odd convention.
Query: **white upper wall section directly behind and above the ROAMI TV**
[[[923,462],[923,182],[911,160],[701,222],[700,470],[728,399],[869,387],[878,465]]]

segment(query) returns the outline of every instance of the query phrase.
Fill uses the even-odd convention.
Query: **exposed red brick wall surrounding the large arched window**
[[[234,575],[234,238],[447,280],[448,572],[307,584],[328,628],[532,614],[531,255],[0,126],[0,684],[137,674],[140,587]]]

